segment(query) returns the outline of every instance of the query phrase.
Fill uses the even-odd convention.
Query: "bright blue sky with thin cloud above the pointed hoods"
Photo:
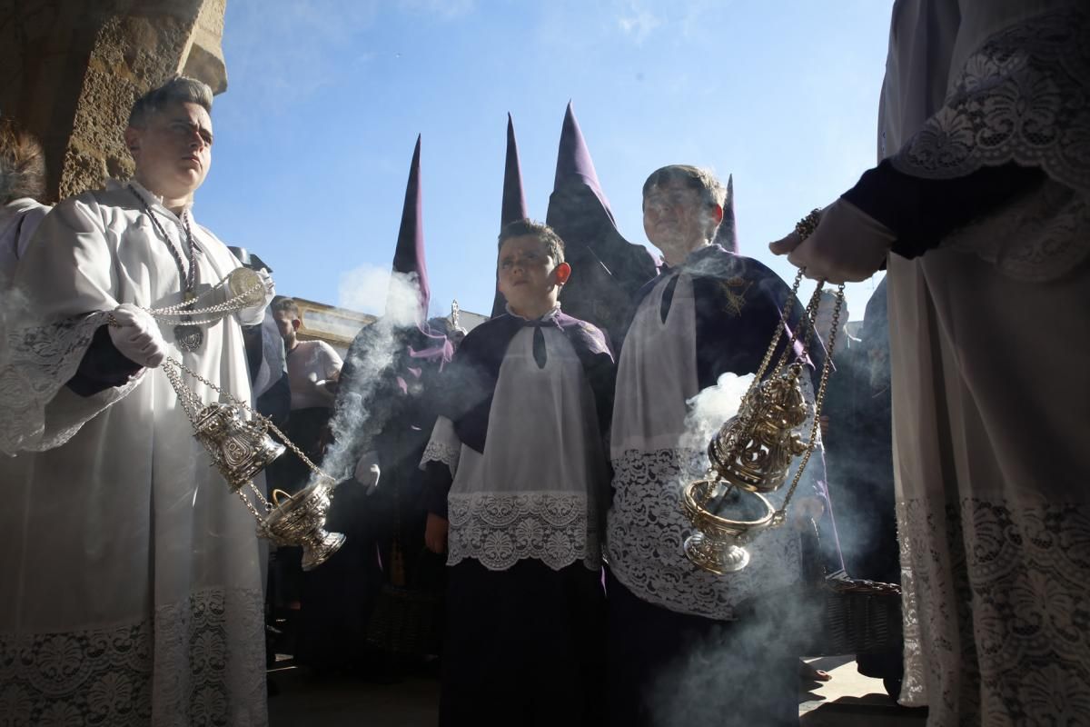
[[[574,104],[621,233],[666,163],[735,178],[741,249],[874,165],[892,0],[228,0],[228,90],[197,218],[278,291],[382,313],[409,162],[432,314],[492,305],[507,113],[545,218]],[[862,315],[872,281],[849,289]]]

